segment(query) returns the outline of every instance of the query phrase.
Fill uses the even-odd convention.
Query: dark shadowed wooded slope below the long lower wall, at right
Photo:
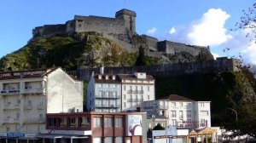
[[[180,94],[192,100],[211,101],[212,126],[236,129],[256,135],[256,79],[247,69],[241,72],[155,76],[156,99]]]

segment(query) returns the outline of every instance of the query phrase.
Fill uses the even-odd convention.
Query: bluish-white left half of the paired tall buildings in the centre
[[[86,110],[121,112],[121,83],[119,77],[92,74],[87,86]]]

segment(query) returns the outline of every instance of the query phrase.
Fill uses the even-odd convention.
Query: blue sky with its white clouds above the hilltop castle
[[[75,14],[114,17],[119,9],[137,12],[137,33],[159,40],[210,45],[212,54],[242,53],[256,63],[255,44],[248,46],[247,31],[229,31],[242,9],[254,0],[1,0],[0,57],[26,45],[35,26],[61,24]],[[223,49],[229,48],[228,52]],[[254,56],[255,55],[255,56]]]

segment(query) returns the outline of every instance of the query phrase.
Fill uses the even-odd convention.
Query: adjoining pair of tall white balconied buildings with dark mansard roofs
[[[87,87],[88,112],[135,111],[144,100],[154,100],[154,78],[143,72],[134,74],[94,74]]]

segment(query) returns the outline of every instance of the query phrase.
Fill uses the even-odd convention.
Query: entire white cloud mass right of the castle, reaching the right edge
[[[209,9],[199,20],[189,25],[175,26],[175,29],[172,27],[175,32],[171,32],[171,28],[167,39],[179,43],[209,45],[211,50],[214,49],[214,58],[241,55],[246,64],[256,64],[256,43],[246,37],[253,30],[228,31],[224,26],[229,18],[230,14],[222,9]],[[223,49],[230,50],[223,52]]]

